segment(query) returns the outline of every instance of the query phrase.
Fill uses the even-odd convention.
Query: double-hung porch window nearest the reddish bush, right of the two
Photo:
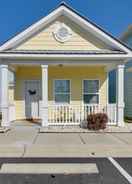
[[[99,103],[99,80],[83,81],[83,101],[85,104]]]

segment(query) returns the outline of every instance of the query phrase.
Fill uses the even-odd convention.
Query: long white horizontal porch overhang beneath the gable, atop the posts
[[[32,62],[37,59],[37,61],[60,61],[63,60],[63,62],[67,61],[72,63],[72,61],[76,61],[79,63],[87,62],[89,61],[95,61],[95,64],[107,64],[107,63],[125,63],[128,62],[128,60],[132,59],[132,54],[126,54],[126,53],[14,53],[14,52],[0,52],[0,59],[1,61],[5,61],[6,63],[10,62],[11,60],[21,60],[21,61],[27,61]],[[19,61],[20,62],[20,61]],[[46,64],[50,64],[49,62]],[[86,64],[86,63],[85,63]],[[94,63],[93,63],[94,64]]]

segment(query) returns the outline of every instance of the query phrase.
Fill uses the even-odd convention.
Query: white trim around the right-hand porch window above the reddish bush
[[[85,80],[97,80],[97,81],[99,81],[99,92],[98,93],[84,93],[84,81]],[[97,94],[98,96],[99,96],[99,103],[88,103],[88,104],[85,104],[84,103],[84,94],[88,94],[88,95],[93,95],[93,94]],[[82,103],[83,103],[83,105],[85,104],[85,105],[99,105],[100,104],[100,80],[99,79],[83,79],[82,80]]]

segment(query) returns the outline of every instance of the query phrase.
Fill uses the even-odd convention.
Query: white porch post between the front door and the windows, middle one
[[[48,126],[48,65],[42,67],[42,126]]]

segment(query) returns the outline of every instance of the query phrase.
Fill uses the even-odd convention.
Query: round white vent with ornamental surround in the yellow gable
[[[65,24],[59,24],[53,32],[53,35],[57,41],[64,43],[71,38],[72,32]]]

